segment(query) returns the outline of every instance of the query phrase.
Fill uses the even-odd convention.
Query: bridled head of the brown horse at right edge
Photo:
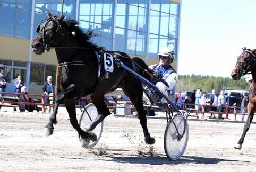
[[[254,73],[256,49],[250,50],[243,48],[243,52],[237,57],[236,66],[233,69],[231,76],[234,80],[239,80],[245,74]]]

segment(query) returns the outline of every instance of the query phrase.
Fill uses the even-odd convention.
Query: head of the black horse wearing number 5
[[[46,19],[37,27],[37,37],[32,42],[32,49],[37,55],[41,55],[45,50],[49,51],[50,46],[57,47],[61,41],[60,35],[64,34],[65,29],[62,29],[62,21],[65,15],[60,17],[52,16],[47,13]],[[63,33],[62,33],[63,32]]]

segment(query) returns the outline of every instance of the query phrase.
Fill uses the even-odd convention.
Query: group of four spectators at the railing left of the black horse
[[[15,95],[14,97],[19,98],[19,102],[33,102],[32,98],[30,98],[27,94],[27,87],[25,87],[25,84],[22,82],[22,78],[20,75],[18,75],[14,79],[14,93],[19,93],[22,95]],[[6,78],[4,77],[4,70],[0,71],[0,97],[4,97],[4,93],[6,92],[6,87],[8,83],[6,82]],[[47,77],[47,82],[42,86],[42,91],[44,92],[44,95],[54,95],[54,84],[52,82],[52,76]],[[1,98],[2,99],[2,98]],[[53,97],[45,97],[44,99],[46,104],[53,103]],[[19,103],[19,110],[21,112],[24,112],[25,110],[29,112],[33,112],[35,110],[35,105],[29,105],[29,104],[22,104]],[[50,112],[50,107],[49,107]]]

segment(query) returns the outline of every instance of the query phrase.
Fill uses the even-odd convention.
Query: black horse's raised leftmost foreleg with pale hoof
[[[65,97],[69,97],[74,93],[75,85],[70,85],[67,87],[64,92],[59,93],[55,98],[55,105],[52,115],[50,115],[49,121],[45,126],[44,135],[47,137],[53,134],[54,127],[53,124],[57,123],[57,111],[59,104],[64,100]]]

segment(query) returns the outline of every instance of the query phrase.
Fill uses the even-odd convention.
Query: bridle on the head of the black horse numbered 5
[[[56,31],[55,31],[55,37],[56,37],[57,32],[59,31],[59,29],[61,29],[61,24],[59,24],[58,20],[57,20],[55,17],[48,17],[48,19],[42,20],[41,23],[42,23],[43,21],[45,21],[45,20],[46,20],[46,22],[44,23],[44,25],[42,26],[42,28],[40,28],[41,24],[37,26],[37,33],[42,32],[42,46],[44,46],[44,48],[49,52],[49,51],[50,51],[50,48],[51,48],[51,47],[50,47],[50,42],[51,42],[51,41],[46,42],[46,40],[45,40],[45,27],[46,27],[46,25],[47,25],[49,22],[52,22],[52,21],[53,21],[53,22],[57,23],[57,29],[56,29]],[[54,37],[54,39],[55,39],[55,37]],[[54,39],[53,39],[53,40],[54,40]]]

